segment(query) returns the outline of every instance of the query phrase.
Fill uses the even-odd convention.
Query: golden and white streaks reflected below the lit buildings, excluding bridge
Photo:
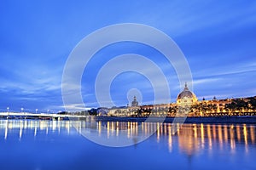
[[[177,124],[158,122],[98,122],[97,132],[102,133],[105,128],[108,138],[119,135],[121,130],[127,130],[127,138],[155,131],[157,142],[167,137],[168,149],[172,152],[173,143],[178,143],[179,150],[193,155],[201,150],[212,151],[213,145],[219,150],[230,150],[236,153],[236,144],[244,144],[247,152],[248,144],[255,144],[255,126],[246,124]],[[174,130],[177,128],[177,133]],[[116,133],[113,133],[116,132]],[[174,140],[177,139],[177,140]]]

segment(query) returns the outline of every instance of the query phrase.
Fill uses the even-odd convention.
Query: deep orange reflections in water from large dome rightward
[[[165,126],[165,125],[164,125]],[[241,133],[242,129],[242,133]],[[248,144],[255,144],[255,127],[253,125],[198,125],[184,124],[177,134],[179,148],[188,155],[207,148],[212,151],[212,144],[218,144],[215,149],[230,150],[236,153],[236,144],[244,144],[248,152]],[[224,148],[225,147],[225,148]]]

